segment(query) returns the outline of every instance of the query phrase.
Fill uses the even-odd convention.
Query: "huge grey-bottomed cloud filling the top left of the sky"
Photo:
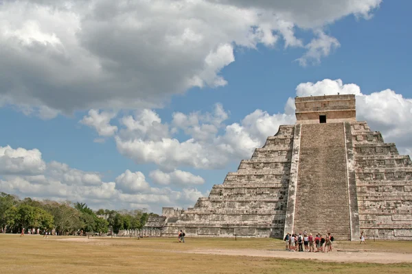
[[[220,71],[235,61],[238,47],[273,47],[282,39],[286,48],[306,47],[301,64],[319,62],[339,46],[323,26],[350,14],[369,18],[379,4],[3,1],[0,105],[43,119],[91,108],[161,107],[192,87],[225,86]],[[313,32],[308,45],[295,36],[298,27]],[[102,134],[114,127],[107,130]]]

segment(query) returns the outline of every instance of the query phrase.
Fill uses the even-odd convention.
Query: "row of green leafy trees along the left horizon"
[[[0,230],[19,233],[24,228],[54,231],[58,235],[78,232],[118,233],[122,229],[141,229],[149,216],[158,216],[142,210],[93,211],[86,203],[38,201],[19,199],[16,195],[0,192]]]

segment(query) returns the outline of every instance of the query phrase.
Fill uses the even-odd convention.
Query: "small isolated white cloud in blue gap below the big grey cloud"
[[[80,123],[96,129],[100,136],[113,136],[117,132],[117,127],[111,125],[111,119],[116,114],[111,112],[99,112],[98,110],[89,110],[89,115],[84,116]]]

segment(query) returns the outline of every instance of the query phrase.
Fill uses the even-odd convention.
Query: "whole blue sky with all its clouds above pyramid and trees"
[[[293,123],[293,113],[284,114],[284,108],[302,83],[303,95],[358,92],[358,119],[366,119],[373,130],[382,131],[385,140],[399,142],[403,153],[411,151],[412,145],[405,138],[412,121],[409,1],[360,0],[367,3],[366,10],[362,5],[351,7],[350,1],[332,1],[335,8],[319,6],[317,12],[303,14],[292,1],[286,9],[293,16],[278,11],[277,4],[267,7],[265,1],[257,1],[255,6],[231,1],[216,6],[220,4],[198,1],[196,7],[181,1],[188,7],[182,17],[194,21],[205,18],[204,24],[209,24],[209,28],[185,25],[190,23],[180,21],[174,12],[164,24],[150,20],[162,14],[162,8],[136,1],[130,9],[146,10],[151,31],[147,37],[149,34],[141,33],[139,27],[126,29],[124,22],[119,24],[114,19],[107,19],[104,27],[92,28],[95,23],[86,16],[97,14],[97,6],[84,11],[76,4],[67,8],[56,1],[60,13],[49,11],[45,15],[41,11],[51,5],[47,1],[20,12],[16,12],[19,3],[3,2],[0,18],[4,19],[0,23],[6,27],[0,29],[0,43],[7,54],[0,53],[5,60],[0,65],[0,147],[10,148],[8,153],[3,149],[3,155],[0,150],[2,191],[38,199],[81,200],[93,208],[144,207],[159,212],[161,206],[193,206],[197,197],[208,194],[211,186],[222,184],[227,172],[236,171],[241,159],[250,158],[253,148],[263,145],[266,136],[275,134],[280,124]],[[100,1],[103,8],[104,2]],[[321,1],[305,3],[317,6]],[[157,4],[170,9],[166,1]],[[237,10],[231,17],[225,15],[228,7]],[[301,40],[301,46],[285,48],[279,22],[271,17],[271,12],[265,18],[255,17],[261,9],[284,16],[284,21],[294,26],[294,38]],[[15,18],[4,14],[14,14]],[[73,14],[84,19],[77,21]],[[139,18],[128,12],[123,15]],[[59,16],[66,21],[60,22]],[[305,16],[313,16],[313,21],[321,23],[302,21]],[[17,18],[21,22],[16,22]],[[222,29],[216,29],[215,21],[219,20]],[[54,22],[55,28],[49,22]],[[182,29],[168,29],[168,24]],[[268,33],[253,39],[245,36],[250,34],[244,29],[252,25],[261,27],[262,34],[266,32],[264,26],[271,25],[269,33],[278,35],[277,41],[273,42]],[[79,28],[75,33],[72,29],[76,27]],[[317,39],[319,32],[325,35],[322,37],[336,40],[339,47],[323,41],[318,50],[328,53],[310,55],[310,42]],[[161,48],[162,44],[154,42],[159,38],[168,40],[176,33],[183,33],[181,37],[196,45],[185,40],[183,44],[170,42]],[[117,36],[113,38],[112,34]],[[151,42],[154,44],[150,47],[144,46]],[[212,61],[205,61],[208,56]],[[302,56],[307,56],[306,66],[297,61]],[[201,87],[187,84],[187,77],[194,76],[200,79],[197,81],[201,81]],[[226,83],[216,84],[218,76]],[[334,84],[331,86],[325,79]],[[334,81],[337,79],[341,79],[341,84]],[[387,89],[391,92],[382,92]],[[222,121],[216,118],[216,103],[227,115]],[[90,116],[91,109],[98,114],[112,114],[113,118],[100,124],[101,129],[117,129],[99,136],[95,119],[89,124],[81,123]],[[137,114],[144,109],[150,112],[139,120]],[[47,112],[42,115],[39,110]],[[192,113],[200,121],[198,125],[213,127],[211,130],[216,132],[205,134],[203,128],[193,134],[193,124],[189,125],[188,120],[178,125],[173,119],[176,112],[186,118]],[[373,115],[377,112],[382,115]],[[255,116],[251,116],[250,123],[242,123],[252,113]],[[144,129],[132,129],[122,123],[125,116],[133,114],[135,123],[146,123]],[[155,114],[161,123],[153,120]],[[202,121],[200,117],[205,114],[209,118]],[[268,126],[262,129],[259,123]],[[235,127],[240,131],[231,134]],[[165,147],[164,155],[162,149],[148,150],[150,142],[155,142],[156,147],[164,138],[175,138],[179,145],[174,149]],[[194,138],[196,147],[183,147],[181,144],[190,138]],[[96,139],[100,142],[93,142]],[[136,145],[133,140],[141,140],[142,146],[132,147],[130,144]],[[222,147],[226,149],[218,150]],[[19,148],[23,150],[17,151]],[[192,162],[192,156],[199,161],[206,159],[209,164]],[[67,168],[56,167],[50,164],[52,161],[67,164]],[[131,173],[127,175],[126,170]],[[158,171],[157,177],[150,175],[153,171]],[[97,175],[98,179],[87,179],[86,174]],[[119,177],[122,174],[126,175]]]

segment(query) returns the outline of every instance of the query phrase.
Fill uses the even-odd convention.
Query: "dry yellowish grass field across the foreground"
[[[302,253],[284,251],[284,242],[274,239],[187,238],[76,238],[0,235],[0,273],[412,273],[412,264],[370,264],[299,259]],[[199,254],[218,250],[276,251],[290,258]],[[412,242],[336,242],[330,256],[359,251],[359,256],[385,252],[409,256]],[[405,254],[406,253],[406,254]],[[398,254],[398,255],[397,255]],[[305,254],[308,255],[308,254]],[[317,255],[323,254],[312,253]],[[293,258],[297,256],[297,258]]]

